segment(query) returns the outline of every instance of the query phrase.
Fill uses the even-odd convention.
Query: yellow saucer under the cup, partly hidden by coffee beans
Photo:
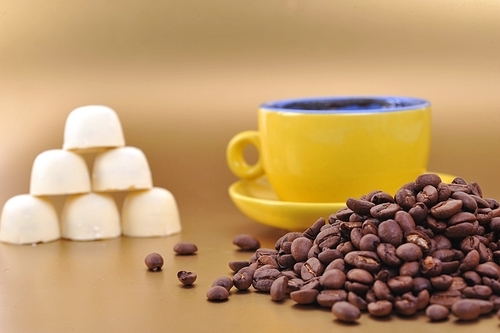
[[[451,183],[454,176],[438,173],[442,181]],[[229,187],[229,196],[238,209],[259,223],[289,231],[304,231],[318,218],[328,218],[345,202],[308,203],[278,199],[265,177],[254,181],[240,180]]]

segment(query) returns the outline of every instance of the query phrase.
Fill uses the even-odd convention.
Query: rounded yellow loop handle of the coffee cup
[[[255,146],[258,152],[257,162],[253,165],[248,164],[243,156],[243,150],[249,144]],[[227,145],[227,165],[237,177],[242,179],[252,180],[264,174],[261,156],[260,135],[257,131],[244,131],[236,134]]]

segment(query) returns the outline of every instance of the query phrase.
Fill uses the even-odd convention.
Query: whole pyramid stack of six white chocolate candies
[[[95,153],[92,174],[80,155]],[[110,192],[128,191],[120,212]],[[67,196],[61,216],[50,196]],[[153,187],[144,153],[125,146],[117,114],[106,106],[73,110],[63,149],[39,154],[31,170],[30,193],[10,198],[0,217],[0,241],[11,244],[59,238],[90,241],[160,237],[181,231],[170,191]]]

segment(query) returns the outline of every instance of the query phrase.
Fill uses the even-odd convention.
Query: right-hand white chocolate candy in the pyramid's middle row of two
[[[142,150],[121,147],[96,155],[92,169],[93,191],[128,191],[152,187],[151,170]]]

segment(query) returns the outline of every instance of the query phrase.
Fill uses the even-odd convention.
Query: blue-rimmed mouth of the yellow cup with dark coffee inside
[[[321,105],[322,108],[316,107]],[[266,111],[293,113],[380,113],[415,110],[429,107],[421,98],[405,96],[325,96],[270,101],[261,104]]]

